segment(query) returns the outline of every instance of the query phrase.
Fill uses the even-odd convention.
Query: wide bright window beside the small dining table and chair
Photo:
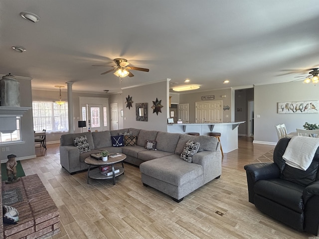
[[[68,131],[68,104],[62,106],[54,102],[32,102],[33,129],[46,132]]]

